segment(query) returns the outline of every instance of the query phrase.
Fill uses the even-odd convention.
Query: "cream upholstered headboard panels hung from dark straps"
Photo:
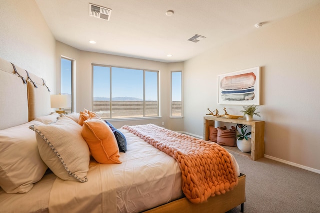
[[[0,130],[50,113],[45,81],[0,58]]]

